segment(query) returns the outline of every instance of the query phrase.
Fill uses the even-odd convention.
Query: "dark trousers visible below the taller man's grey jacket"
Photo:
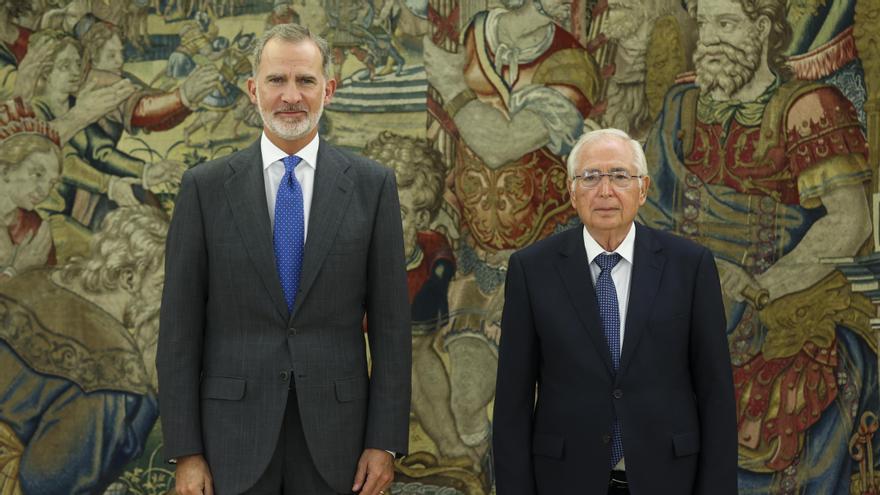
[[[269,466],[244,495],[338,495],[318,473],[309,454],[295,389],[287,396],[281,434]]]

